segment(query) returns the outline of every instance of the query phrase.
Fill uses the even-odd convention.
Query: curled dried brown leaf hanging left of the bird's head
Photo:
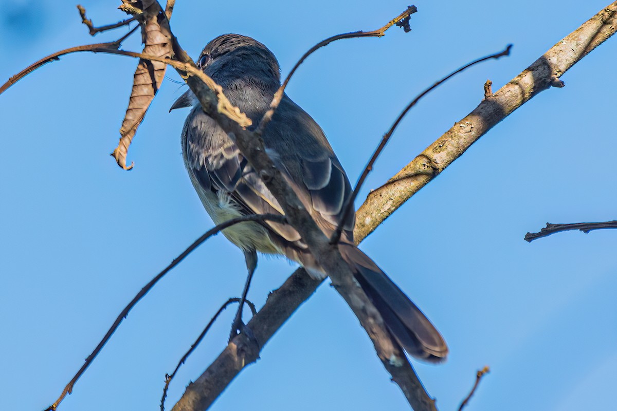
[[[130,6],[139,6],[138,2],[123,0],[124,4],[130,3]],[[141,24],[141,32],[144,39],[144,54],[155,55],[162,59],[172,57],[172,34],[169,28],[169,22],[159,2],[155,0],[144,0],[142,6],[143,12],[133,14],[139,19]],[[128,108],[122,121],[120,128],[120,141],[118,146],[112,152],[112,156],[120,167],[125,170],[133,168],[133,163],[126,166],[126,154],[131,141],[135,136],[137,128],[141,121],[144,120],[147,109],[150,107],[154,96],[165,77],[165,69],[167,65],[163,62],[153,62],[150,60],[140,59],[133,76],[133,91],[128,101]]]

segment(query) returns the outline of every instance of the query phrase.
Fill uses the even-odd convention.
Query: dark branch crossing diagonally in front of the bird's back
[[[183,52],[180,46],[175,46],[174,51],[176,56]],[[117,52],[114,51],[114,53]],[[184,57],[181,57],[181,59],[184,60]],[[186,64],[194,65],[192,61],[186,62]],[[381,315],[362,288],[357,287],[350,266],[342,259],[338,246],[329,244],[328,238],[325,237],[323,231],[310,216],[296,192],[289,187],[280,169],[268,157],[263,140],[258,133],[242,128],[240,124],[231,121],[230,118],[215,110],[212,107],[212,102],[208,100],[213,94],[212,89],[196,76],[190,76],[186,79],[186,82],[201,103],[204,112],[217,121],[228,136],[234,139],[244,158],[249,161],[278,200],[289,224],[299,232],[320,267],[323,267],[324,271],[328,273],[336,286],[336,291],[345,299],[347,305],[360,320],[360,324],[365,328],[367,335],[373,342],[379,360],[391,373],[392,380],[399,384],[410,405],[416,410],[434,410],[433,400],[424,391],[404,351],[387,330]],[[238,354],[239,347],[235,345],[234,341],[236,340],[232,340],[230,344],[233,346],[233,351]],[[239,349],[241,367],[252,362],[253,358],[257,358],[255,352],[259,353],[259,349],[251,350],[244,346]],[[237,365],[233,365],[233,367],[237,368]],[[211,404],[213,401],[212,394],[218,396],[220,391],[214,391],[211,386],[207,385],[207,382],[206,384],[202,383],[203,381],[200,379],[190,385],[174,409],[205,409],[206,404]],[[220,385],[220,381],[217,381],[217,385]]]

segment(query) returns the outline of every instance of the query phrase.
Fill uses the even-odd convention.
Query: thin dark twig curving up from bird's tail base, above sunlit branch
[[[397,128],[397,126],[399,125],[400,121],[403,120],[403,118],[405,117],[407,112],[414,105],[416,105],[418,103],[418,101],[420,101],[420,99],[422,97],[426,96],[426,94],[428,94],[429,92],[433,91],[433,89],[435,89],[440,84],[442,84],[445,81],[447,81],[448,79],[452,78],[453,76],[457,75],[458,73],[460,73],[462,71],[465,71],[467,68],[470,68],[471,66],[476,65],[478,63],[481,63],[481,62],[484,62],[484,61],[490,60],[490,59],[499,59],[500,57],[503,57],[503,56],[506,56],[506,55],[510,55],[510,49],[511,48],[512,48],[512,45],[508,44],[508,46],[503,51],[500,51],[499,53],[487,55],[486,57],[482,57],[481,59],[474,60],[473,62],[468,63],[468,64],[464,65],[461,68],[458,68],[458,70],[456,70],[456,71],[452,71],[452,73],[450,73],[449,75],[445,76],[441,80],[437,81],[437,83],[433,84],[433,86],[428,87],[428,89],[426,89],[423,92],[421,92],[420,94],[418,94],[418,96],[415,99],[413,99],[412,102],[407,105],[407,107],[405,107],[405,110],[403,110],[400,113],[399,117],[394,121],[394,124],[392,124],[392,127],[386,132],[386,134],[384,134],[383,137],[381,137],[381,141],[379,142],[379,145],[375,149],[375,152],[373,153],[373,156],[368,161],[368,164],[364,168],[364,171],[362,171],[362,175],[358,179],[358,182],[355,184],[354,192],[352,192],[352,194],[347,199],[347,203],[344,205],[344,214],[342,215],[341,220],[339,221],[339,225],[336,227],[336,231],[332,234],[332,237],[330,238],[330,243],[331,244],[337,243],[339,241],[339,238],[341,238],[341,232],[342,232],[342,229],[343,229],[344,221],[346,221],[347,216],[349,215],[349,213],[351,212],[352,208],[354,207],[355,198],[357,197],[358,192],[360,192],[360,189],[362,188],[362,184],[364,183],[364,181],[366,179],[366,176],[368,176],[368,173],[373,171],[373,165],[375,164],[375,161],[377,160],[377,157],[379,157],[379,154],[381,154],[381,152],[383,151],[384,147],[386,147],[386,144],[387,144],[388,140],[390,139],[390,137],[392,137],[392,133],[394,133],[394,130]]]

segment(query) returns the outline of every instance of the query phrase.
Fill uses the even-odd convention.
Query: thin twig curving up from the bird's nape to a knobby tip
[[[408,28],[408,25],[409,25],[409,18],[412,14],[414,14],[417,11],[418,11],[418,8],[416,6],[413,6],[413,5],[407,6],[407,10],[405,10],[404,12],[399,14],[397,17],[390,20],[385,26],[378,28],[377,30],[354,31],[352,33],[343,33],[341,35],[329,37],[323,41],[320,41],[320,43],[315,44],[315,46],[311,47],[309,51],[305,52],[304,55],[300,57],[300,60],[298,60],[296,65],[294,65],[291,71],[289,71],[289,74],[283,81],[283,84],[281,84],[281,86],[278,88],[278,90],[274,94],[274,98],[272,99],[272,102],[270,103],[270,108],[263,115],[262,120],[259,122],[259,127],[257,127],[257,129],[255,130],[257,135],[261,136],[265,127],[268,125],[268,123],[270,123],[270,120],[272,120],[272,116],[274,115],[276,108],[281,103],[281,99],[283,99],[283,93],[285,91],[285,87],[287,87],[287,84],[289,83],[291,76],[294,75],[294,73],[296,72],[296,69],[300,67],[300,64],[302,64],[304,60],[306,60],[306,58],[309,57],[309,55],[313,54],[313,52],[317,51],[321,47],[328,46],[328,44],[336,40],[351,39],[351,38],[357,38],[357,37],[382,37],[386,33],[386,30],[389,29],[393,25],[403,27],[405,28],[405,32],[407,32],[408,30],[406,30],[406,28]]]

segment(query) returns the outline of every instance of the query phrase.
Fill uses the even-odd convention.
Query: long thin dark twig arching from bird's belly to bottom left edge
[[[107,331],[106,335],[102,338],[101,342],[99,342],[99,344],[96,346],[96,348],[94,348],[94,351],[88,357],[86,357],[85,363],[81,366],[81,368],[75,374],[75,376],[73,376],[73,379],[70,380],[69,383],[65,386],[64,390],[62,391],[62,394],[60,394],[60,397],[58,397],[56,402],[54,402],[54,404],[49,406],[49,408],[46,409],[46,411],[55,411],[57,406],[64,399],[64,397],[67,396],[67,394],[70,394],[73,391],[73,386],[75,385],[77,380],[79,380],[80,376],[86,371],[86,368],[89,367],[89,365],[93,362],[94,358],[96,358],[96,356],[99,354],[99,352],[101,352],[101,349],[105,346],[107,341],[109,341],[109,339],[111,338],[112,334],[114,334],[115,330],[118,328],[118,326],[120,325],[122,320],[126,318],[126,315],[128,315],[128,312],[131,311],[131,309],[135,306],[135,304],[137,304],[138,301],[141,298],[143,298],[143,296],[146,295],[146,293],[148,291],[150,291],[151,288],[154,287],[154,285],[157,282],[159,282],[159,280],[162,279],[165,274],[167,274],[173,267],[175,267],[178,264],[180,264],[180,261],[182,261],[184,258],[186,258],[186,256],[188,256],[188,254],[190,254],[191,251],[195,250],[199,245],[201,245],[203,242],[205,242],[205,240],[207,240],[208,238],[212,237],[212,235],[217,234],[220,230],[226,229],[227,227],[233,226],[234,224],[238,224],[239,222],[244,222],[244,221],[259,221],[259,222],[262,222],[262,221],[276,221],[276,222],[280,222],[281,224],[283,224],[283,223],[286,222],[286,219],[284,218],[284,216],[275,215],[275,214],[260,214],[260,215],[251,214],[249,216],[242,216],[242,217],[233,218],[231,220],[223,222],[222,224],[218,224],[218,226],[213,227],[212,229],[210,229],[207,232],[205,232],[204,235],[202,235],[201,237],[197,238],[197,240],[195,240],[193,242],[193,244],[189,245],[188,248],[186,248],[186,250],[184,250],[178,257],[173,259],[171,264],[169,264],[167,267],[165,267],[165,269],[163,271],[159,272],[159,274],[157,274],[157,276],[154,277],[154,279],[152,279],[149,283],[147,283],[139,291],[139,293],[137,293],[135,298],[133,298],[131,300],[131,302],[128,303],[128,305],[126,307],[124,307],[122,312],[120,312],[120,315],[118,315],[118,317],[115,319],[114,324],[112,324],[112,326]]]

